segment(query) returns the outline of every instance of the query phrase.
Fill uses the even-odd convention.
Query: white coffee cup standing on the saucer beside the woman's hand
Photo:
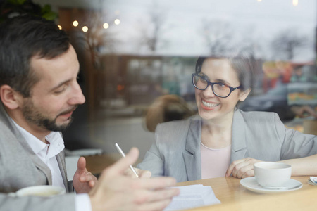
[[[256,162],[254,176],[263,187],[280,187],[290,180],[291,165],[282,162]]]

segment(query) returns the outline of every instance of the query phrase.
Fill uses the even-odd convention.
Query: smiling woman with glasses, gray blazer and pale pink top
[[[317,138],[285,128],[276,113],[243,112],[254,61],[244,56],[199,58],[192,75],[198,115],[159,124],[156,141],[138,165],[178,182],[254,176],[255,162],[292,165],[292,176],[317,174]]]

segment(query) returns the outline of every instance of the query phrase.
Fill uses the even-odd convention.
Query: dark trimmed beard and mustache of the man
[[[60,115],[70,113],[71,111],[75,110],[76,107],[77,106],[74,106],[73,108],[66,110],[65,112],[57,115],[52,120],[49,117],[45,117],[42,113],[40,113],[39,110],[35,108],[33,102],[27,99],[27,101],[25,102],[25,105],[22,108],[22,113],[23,113],[23,116],[25,117],[25,120],[27,120],[27,122],[36,124],[38,127],[42,127],[49,131],[61,132],[69,127],[71,122],[73,122],[73,117],[70,116],[69,122],[60,124],[60,125],[56,124],[56,119]]]

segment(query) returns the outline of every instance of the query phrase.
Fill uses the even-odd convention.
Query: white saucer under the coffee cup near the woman
[[[295,191],[299,188],[302,188],[302,183],[295,179],[290,179],[286,184],[282,186],[282,188],[263,188],[255,179],[255,177],[247,177],[240,180],[240,184],[247,188],[249,191],[254,191],[256,193],[280,193],[287,191]],[[284,189],[285,188],[285,189]]]

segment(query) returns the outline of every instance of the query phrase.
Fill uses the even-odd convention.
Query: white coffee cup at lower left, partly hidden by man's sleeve
[[[51,197],[64,194],[66,191],[60,186],[30,186],[27,188],[21,188],[15,192],[16,196],[43,196]]]

